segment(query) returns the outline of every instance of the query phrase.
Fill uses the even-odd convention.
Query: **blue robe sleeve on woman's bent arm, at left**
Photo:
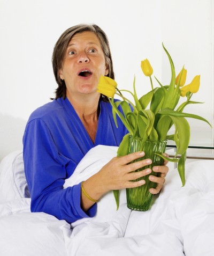
[[[31,211],[43,211],[69,223],[83,217],[93,217],[95,203],[85,213],[81,209],[81,184],[63,188],[66,168],[76,164],[57,150],[45,122],[33,119],[28,122],[23,138],[24,166],[31,197]]]

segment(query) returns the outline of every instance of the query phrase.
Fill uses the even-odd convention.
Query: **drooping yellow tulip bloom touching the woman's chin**
[[[101,76],[99,84],[97,85],[97,92],[102,93],[107,97],[113,98],[116,93],[117,83],[107,76]]]

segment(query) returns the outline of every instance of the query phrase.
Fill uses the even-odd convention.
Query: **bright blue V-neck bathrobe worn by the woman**
[[[116,127],[111,104],[99,104],[95,143],[67,98],[53,100],[30,115],[23,156],[31,211],[43,211],[69,223],[95,216],[96,203],[87,213],[81,209],[81,184],[66,189],[63,185],[91,148],[99,144],[118,146],[127,133],[119,119]]]

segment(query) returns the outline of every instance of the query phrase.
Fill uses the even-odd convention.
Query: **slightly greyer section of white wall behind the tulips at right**
[[[212,0],[163,0],[162,40],[167,45],[178,72],[185,65],[187,83],[201,75],[200,90],[191,100],[204,102],[188,105],[184,112],[194,113],[209,120],[213,126],[213,10]],[[163,53],[164,54],[164,53]],[[167,57],[163,56],[163,81],[167,79]],[[170,67],[169,67],[170,68]],[[213,129],[207,123],[189,119],[192,136],[190,143],[213,147]]]

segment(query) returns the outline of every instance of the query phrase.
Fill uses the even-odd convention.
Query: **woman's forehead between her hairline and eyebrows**
[[[68,46],[70,45],[79,45],[79,44],[88,44],[88,43],[95,43],[98,46],[101,46],[100,40],[98,39],[97,35],[91,31],[84,31],[75,34],[72,36]]]

